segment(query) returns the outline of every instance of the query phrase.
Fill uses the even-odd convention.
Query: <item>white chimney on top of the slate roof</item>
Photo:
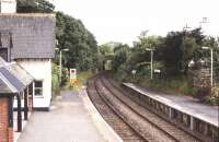
[[[16,13],[16,0],[0,0],[0,13]]]

